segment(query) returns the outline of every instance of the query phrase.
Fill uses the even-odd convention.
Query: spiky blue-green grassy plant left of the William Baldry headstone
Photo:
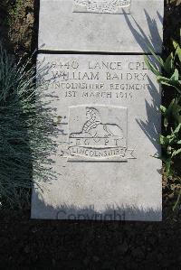
[[[55,112],[42,98],[48,67],[35,75],[30,61],[16,63],[0,46],[0,204],[8,207],[22,207],[33,182],[54,178]]]

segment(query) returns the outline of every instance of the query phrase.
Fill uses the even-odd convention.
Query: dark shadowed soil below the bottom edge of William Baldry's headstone
[[[1,269],[181,269],[180,214],[146,222],[30,220],[0,212]]]

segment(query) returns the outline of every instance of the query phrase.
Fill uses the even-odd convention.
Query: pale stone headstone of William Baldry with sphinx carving
[[[57,181],[33,191],[35,219],[161,219],[160,93],[138,55],[49,55]]]

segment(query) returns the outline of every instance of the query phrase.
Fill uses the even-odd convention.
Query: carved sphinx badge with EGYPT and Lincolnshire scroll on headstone
[[[59,155],[68,162],[129,162],[128,108],[104,105],[69,108],[67,140]],[[65,143],[66,142],[66,143]]]

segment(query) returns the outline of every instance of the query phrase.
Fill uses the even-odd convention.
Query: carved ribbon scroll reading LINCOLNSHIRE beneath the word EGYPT
[[[70,146],[66,150],[61,150],[61,156],[67,157],[68,161],[84,161],[85,159],[96,161],[127,161],[135,159],[133,156],[134,150],[129,150],[126,147],[107,147],[93,148],[84,146]]]

